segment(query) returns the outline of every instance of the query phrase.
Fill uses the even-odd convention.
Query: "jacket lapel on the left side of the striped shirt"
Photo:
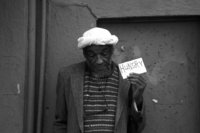
[[[72,74],[71,86],[74,102],[81,131],[83,132],[83,81],[85,72],[85,62],[77,64]]]

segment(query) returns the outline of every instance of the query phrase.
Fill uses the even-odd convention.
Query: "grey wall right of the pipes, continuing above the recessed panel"
[[[96,26],[97,20],[101,18],[182,15],[200,15],[200,1],[51,0],[47,17],[44,132],[51,131],[49,127],[54,119],[57,73],[64,66],[83,60],[82,52],[77,49],[77,38],[85,30]],[[151,129],[152,132],[156,130]]]

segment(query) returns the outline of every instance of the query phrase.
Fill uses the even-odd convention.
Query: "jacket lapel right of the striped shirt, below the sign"
[[[119,73],[119,90],[118,90],[118,99],[117,99],[117,111],[115,116],[115,128],[117,127],[117,123],[119,122],[119,118],[123,111],[123,107],[126,104],[128,98],[128,92],[130,88],[130,83],[123,79],[121,74]]]

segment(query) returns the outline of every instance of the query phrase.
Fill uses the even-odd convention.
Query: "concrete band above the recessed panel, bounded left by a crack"
[[[198,0],[50,0],[58,6],[88,5],[98,18],[199,15]]]

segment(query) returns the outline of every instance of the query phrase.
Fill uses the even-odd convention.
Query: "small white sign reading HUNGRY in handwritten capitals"
[[[119,69],[123,79],[126,79],[130,73],[142,74],[147,72],[142,58],[121,63]]]

